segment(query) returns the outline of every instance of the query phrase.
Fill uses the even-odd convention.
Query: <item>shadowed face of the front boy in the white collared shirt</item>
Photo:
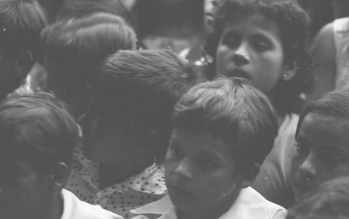
[[[238,195],[243,178],[237,173],[232,149],[221,139],[174,128],[165,158],[165,181],[178,209],[227,204]]]

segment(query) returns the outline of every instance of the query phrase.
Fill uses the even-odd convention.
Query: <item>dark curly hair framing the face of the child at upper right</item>
[[[236,13],[261,13],[278,24],[285,62],[295,61],[298,69],[292,80],[281,81],[276,85],[274,107],[280,112],[299,111],[302,105],[299,95],[310,91],[312,85],[312,75],[306,68],[309,65],[309,55],[306,52],[309,19],[306,13],[295,0],[222,0],[214,16],[214,32],[209,36],[205,47],[211,56],[216,56],[225,24]]]

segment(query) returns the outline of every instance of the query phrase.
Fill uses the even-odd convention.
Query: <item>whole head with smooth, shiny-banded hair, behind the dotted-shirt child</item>
[[[47,27],[42,47],[47,91],[53,91],[80,116],[88,107],[87,80],[107,56],[135,48],[135,32],[121,17],[97,13]]]

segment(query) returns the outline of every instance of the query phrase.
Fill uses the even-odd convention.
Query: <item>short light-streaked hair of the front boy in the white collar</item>
[[[278,120],[268,98],[239,80],[218,78],[194,86],[175,106],[174,127],[221,137],[238,144],[238,168],[262,164],[278,135]]]

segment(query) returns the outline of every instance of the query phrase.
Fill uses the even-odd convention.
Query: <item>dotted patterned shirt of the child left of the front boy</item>
[[[72,172],[66,189],[82,201],[130,218],[128,211],[161,199],[167,194],[163,165],[154,163],[122,183],[99,188],[99,164],[84,157],[82,146],[75,149]]]

